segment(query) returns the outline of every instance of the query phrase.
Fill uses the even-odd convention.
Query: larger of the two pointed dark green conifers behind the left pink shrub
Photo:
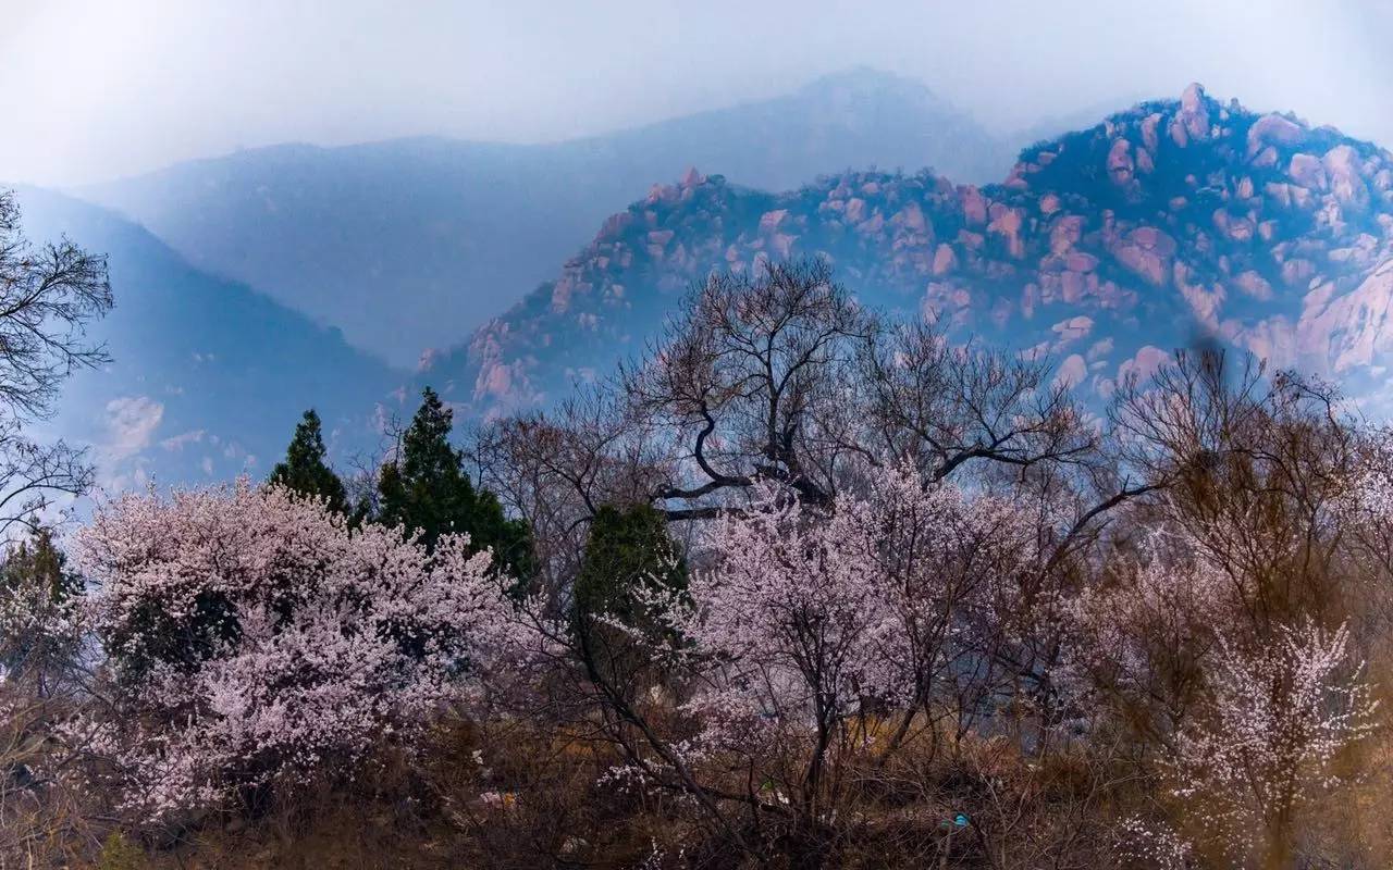
[[[428,547],[442,535],[468,533],[476,548],[493,550],[497,564],[520,580],[532,572],[527,523],[508,519],[493,493],[474,487],[464,455],[450,445],[453,412],[426,387],[401,436],[396,462],[378,480],[378,521],[419,532]]]

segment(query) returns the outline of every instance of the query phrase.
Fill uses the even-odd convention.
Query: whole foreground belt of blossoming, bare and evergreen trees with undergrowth
[[[547,408],[96,494],[0,196],[0,867],[1380,867],[1393,433],[717,273]]]

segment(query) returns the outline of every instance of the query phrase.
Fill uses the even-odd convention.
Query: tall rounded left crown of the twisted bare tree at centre
[[[634,409],[670,427],[674,477],[653,493],[673,519],[758,479],[826,503],[837,451],[823,450],[826,411],[853,401],[858,345],[879,329],[822,260],[717,274],[683,305],[648,358],[621,374]]]

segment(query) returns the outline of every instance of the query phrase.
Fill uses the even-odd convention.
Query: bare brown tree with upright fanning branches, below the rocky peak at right
[[[1332,387],[1180,351],[1145,388],[1124,384],[1113,416],[1124,462],[1163,487],[1149,509],[1233,578],[1256,636],[1346,615],[1329,574],[1364,457]]]

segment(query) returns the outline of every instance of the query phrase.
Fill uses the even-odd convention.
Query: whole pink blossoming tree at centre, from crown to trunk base
[[[827,508],[759,484],[705,530],[688,589],[652,603],[692,729],[656,759],[634,753],[630,773],[678,768],[688,789],[731,799],[720,782],[738,768],[756,812],[825,818],[848,760],[933,741],[944,711],[986,692],[981,632],[1002,628],[1035,543],[1013,505],[908,465],[871,469]]]

